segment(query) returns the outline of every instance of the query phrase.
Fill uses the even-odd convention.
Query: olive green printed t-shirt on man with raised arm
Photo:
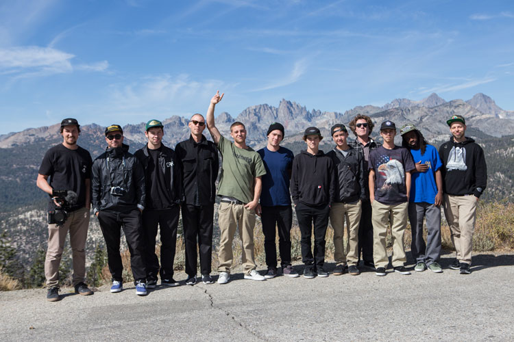
[[[230,196],[247,203],[254,200],[255,177],[266,174],[260,155],[251,147],[238,148],[223,135],[219,137],[221,175],[218,196]]]

